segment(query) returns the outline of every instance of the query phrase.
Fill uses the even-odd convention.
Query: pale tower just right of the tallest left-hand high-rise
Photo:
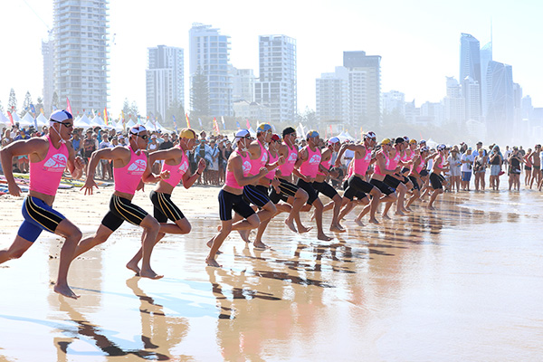
[[[181,48],[158,45],[148,48],[145,71],[147,114],[166,120],[167,110],[175,104],[185,107],[184,52]]]

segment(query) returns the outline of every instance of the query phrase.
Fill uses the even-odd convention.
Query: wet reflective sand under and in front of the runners
[[[148,191],[150,187],[148,187]],[[148,191],[135,203],[151,211]],[[519,361],[543,356],[543,194],[445,194],[437,211],[359,227],[329,243],[279,217],[257,251],[232,234],[205,267],[219,223],[214,187],[176,188],[193,225],[153,253],[158,281],[124,265],[140,230],[123,224],[71,265],[79,300],[52,291],[60,238],[43,233],[0,265],[0,361]],[[92,233],[110,187],[60,191],[56,208]],[[22,199],[0,196],[0,247]],[[325,214],[329,224],[330,213]],[[304,215],[310,224],[309,215]]]

